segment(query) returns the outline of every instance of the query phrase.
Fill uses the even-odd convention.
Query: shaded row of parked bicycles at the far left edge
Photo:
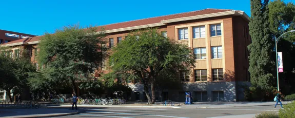
[[[39,108],[40,103],[36,101],[29,101],[29,102],[7,102],[7,101],[2,101],[0,102],[1,107],[25,107],[25,108]]]

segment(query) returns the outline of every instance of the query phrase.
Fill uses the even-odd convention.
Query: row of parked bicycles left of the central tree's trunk
[[[126,104],[126,100],[124,99],[111,99],[110,97],[108,99],[82,99],[81,97],[78,97],[77,104],[80,105],[121,105]]]

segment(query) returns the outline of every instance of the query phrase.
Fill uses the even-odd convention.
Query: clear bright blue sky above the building
[[[34,35],[77,23],[106,25],[206,8],[242,10],[250,16],[250,0],[11,0],[0,5],[0,29]]]

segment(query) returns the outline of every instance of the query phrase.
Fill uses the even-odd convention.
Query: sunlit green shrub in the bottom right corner
[[[280,109],[279,116],[282,118],[295,118],[295,102],[289,103],[283,106],[284,109]]]

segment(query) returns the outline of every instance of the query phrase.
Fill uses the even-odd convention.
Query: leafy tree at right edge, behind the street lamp
[[[283,1],[269,2],[269,23],[272,38],[295,29],[295,5]],[[280,90],[283,94],[291,94],[295,87],[295,33],[287,33],[278,42],[278,52],[283,52],[284,72],[279,73]],[[276,54],[273,54],[276,58]]]

